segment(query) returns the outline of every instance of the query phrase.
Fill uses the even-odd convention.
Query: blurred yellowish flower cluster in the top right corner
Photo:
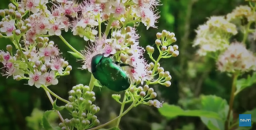
[[[244,18],[249,22],[256,20],[256,13],[248,5],[240,5],[227,15],[228,21],[243,20]]]

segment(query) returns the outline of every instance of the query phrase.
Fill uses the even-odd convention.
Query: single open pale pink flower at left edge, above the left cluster
[[[2,27],[0,28],[0,31],[3,33],[6,33],[7,36],[10,36],[13,34],[13,31],[16,30],[15,27],[15,20],[9,20],[2,22]]]

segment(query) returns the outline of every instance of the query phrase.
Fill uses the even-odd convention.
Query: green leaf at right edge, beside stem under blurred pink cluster
[[[235,95],[237,95],[239,92],[241,92],[244,88],[252,86],[254,83],[256,83],[256,72],[254,72],[251,77],[250,75],[247,76],[247,78],[241,78],[236,81],[236,92]]]

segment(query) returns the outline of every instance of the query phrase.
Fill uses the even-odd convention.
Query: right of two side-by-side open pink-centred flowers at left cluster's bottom
[[[45,85],[57,85],[58,84],[58,79],[55,78],[55,74],[54,71],[50,71],[50,73],[45,73],[43,74],[43,79],[42,79],[43,83],[45,83]]]

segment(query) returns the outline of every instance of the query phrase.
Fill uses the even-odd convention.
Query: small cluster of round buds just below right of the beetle
[[[140,102],[147,104],[149,106],[154,106],[157,108],[162,107],[162,103],[158,101],[158,99],[154,99],[157,97],[157,93],[154,92],[154,88],[149,88],[148,85],[139,86],[138,88],[131,87],[128,89],[128,92],[126,92],[126,95],[131,92],[132,95],[135,97],[135,99],[139,100],[141,99]],[[148,99],[154,99],[154,100],[148,100]],[[145,101],[148,100],[148,101]]]

